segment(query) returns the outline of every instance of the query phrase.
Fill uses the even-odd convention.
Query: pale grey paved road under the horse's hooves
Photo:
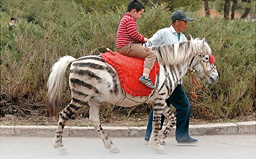
[[[195,136],[197,144],[177,144],[175,138],[166,139],[167,155],[156,154],[143,138],[111,138],[118,145],[121,152],[110,153],[103,146],[99,138],[64,138],[64,145],[69,156],[59,156],[51,145],[52,138],[1,136],[1,159],[255,159],[256,135],[216,135]]]

